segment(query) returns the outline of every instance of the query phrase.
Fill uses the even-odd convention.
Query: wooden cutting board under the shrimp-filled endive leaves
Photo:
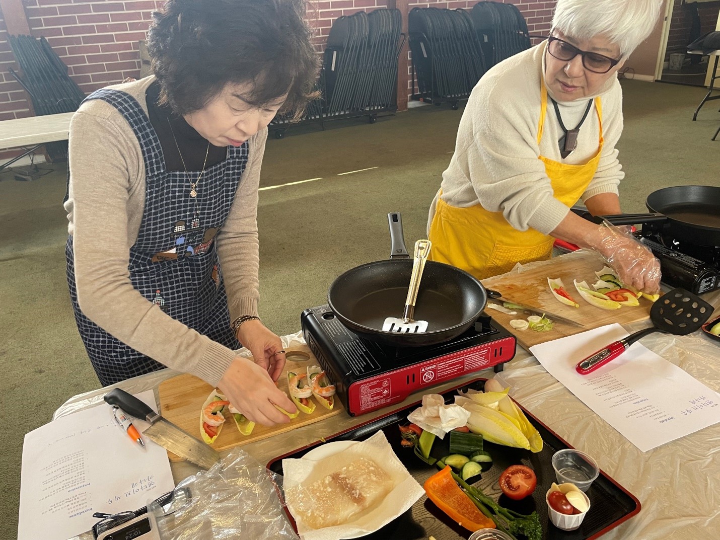
[[[318,366],[319,364],[315,356],[310,352],[310,348],[305,345],[288,347],[286,351],[287,363],[282,376],[278,380],[278,387],[287,393],[288,372],[306,372],[308,366]],[[160,414],[179,428],[202,440],[199,433],[200,409],[207,400],[207,396],[212,392],[212,386],[202,379],[194,377],[194,375],[182,374],[161,382],[158,392],[160,395]],[[315,397],[310,397],[310,399],[315,401]],[[248,436],[240,433],[238,428],[235,427],[233,419],[229,415],[225,415],[227,420],[222,425],[222,431],[220,431],[220,435],[217,436],[212,447],[215,450],[225,450],[233,446],[248,444],[261,438],[285,433],[300,426],[307,426],[307,424],[323,420],[323,418],[338,415],[344,410],[343,405],[337,398],[333,410],[328,410],[317,402],[315,405],[312,414],[308,415],[300,411],[297,418],[290,420],[286,424],[278,424],[270,428],[256,424],[252,433]],[[173,462],[182,461],[181,457],[171,452],[168,452],[168,456]]]

